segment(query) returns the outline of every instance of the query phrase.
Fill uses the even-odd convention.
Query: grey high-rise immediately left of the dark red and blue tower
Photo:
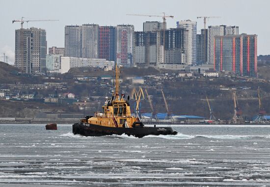
[[[99,25],[85,24],[81,26],[81,57],[98,58]]]

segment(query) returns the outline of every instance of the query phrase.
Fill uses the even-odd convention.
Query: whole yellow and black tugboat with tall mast
[[[131,113],[129,96],[119,94],[119,68],[115,66],[115,92],[108,100],[106,98],[102,112],[95,112],[94,116],[86,116],[79,123],[73,125],[73,134],[84,136],[102,136],[112,134],[127,134],[135,137],[145,135],[177,134],[171,127],[144,127],[139,118]]]

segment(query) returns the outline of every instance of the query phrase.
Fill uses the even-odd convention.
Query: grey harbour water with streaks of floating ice
[[[0,125],[0,186],[267,187],[270,126],[84,137],[70,125]]]

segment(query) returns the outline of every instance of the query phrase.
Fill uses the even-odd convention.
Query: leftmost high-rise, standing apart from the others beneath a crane
[[[15,67],[25,73],[46,72],[46,31],[21,28],[15,31]]]

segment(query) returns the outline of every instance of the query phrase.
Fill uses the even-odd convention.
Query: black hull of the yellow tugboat
[[[112,134],[127,134],[135,137],[143,137],[146,135],[175,135],[171,127],[135,127],[135,128],[116,128],[105,127],[100,125],[93,125],[88,123],[75,123],[72,126],[73,134],[81,134],[84,136],[103,136]]]

